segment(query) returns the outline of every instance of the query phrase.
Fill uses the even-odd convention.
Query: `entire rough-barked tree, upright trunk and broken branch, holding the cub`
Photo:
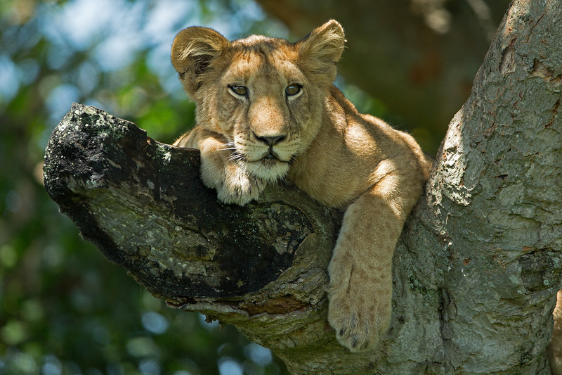
[[[86,239],[170,305],[234,324],[294,374],[549,374],[562,284],[562,2],[516,0],[453,118],[394,258],[393,322],[339,346],[326,267],[340,220],[291,186],[216,203],[197,151],[74,105],[45,185]]]

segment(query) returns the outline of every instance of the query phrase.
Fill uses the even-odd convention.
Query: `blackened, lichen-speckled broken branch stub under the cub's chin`
[[[199,151],[74,104],[49,142],[45,184],[107,258],[177,303],[259,291],[310,256],[311,242],[329,258],[337,215],[282,186],[247,208],[222,205],[199,163]]]

